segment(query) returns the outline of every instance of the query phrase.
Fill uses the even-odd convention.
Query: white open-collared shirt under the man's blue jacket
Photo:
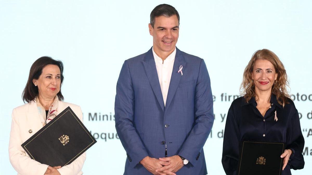
[[[163,102],[166,106],[169,84],[170,84],[170,79],[171,79],[171,74],[172,74],[172,69],[173,69],[173,63],[174,63],[177,49],[174,49],[174,51],[165,60],[162,60],[154,52],[154,47],[152,50],[153,50],[153,55],[154,55],[154,59],[156,63],[156,70],[158,74],[160,89],[161,89],[161,93],[163,94]]]

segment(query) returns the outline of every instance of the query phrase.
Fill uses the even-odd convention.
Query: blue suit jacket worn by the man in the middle
[[[180,65],[183,75],[178,73]],[[150,174],[139,161],[146,156],[164,157],[164,143],[168,157],[189,160],[177,174],[207,174],[202,148],[214,120],[212,106],[203,59],[177,48],[166,107],[152,49],[126,60],[115,98],[115,126],[127,152],[124,174]]]

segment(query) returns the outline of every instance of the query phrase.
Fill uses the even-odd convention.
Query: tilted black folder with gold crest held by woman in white
[[[85,125],[67,107],[24,142],[22,148],[30,158],[54,167],[70,164],[95,143]]]

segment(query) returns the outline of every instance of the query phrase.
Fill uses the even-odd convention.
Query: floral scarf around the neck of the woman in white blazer
[[[38,109],[39,116],[41,116],[44,120],[46,119],[46,121],[45,121],[45,123],[43,125],[46,125],[47,123],[49,123],[52,119],[54,119],[57,116],[57,114],[58,114],[58,111],[57,111],[57,108],[58,108],[58,98],[57,98],[57,96],[54,97],[54,101],[51,104],[51,106],[49,107],[49,112],[48,112],[47,116],[46,116],[46,110],[40,104],[38,97],[36,97],[36,104],[37,104],[37,109]]]

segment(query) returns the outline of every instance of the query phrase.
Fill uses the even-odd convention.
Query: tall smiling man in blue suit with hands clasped
[[[213,124],[203,59],[176,48],[179,14],[154,8],[153,47],[124,62],[116,88],[115,126],[127,153],[124,174],[207,174],[203,146]]]

